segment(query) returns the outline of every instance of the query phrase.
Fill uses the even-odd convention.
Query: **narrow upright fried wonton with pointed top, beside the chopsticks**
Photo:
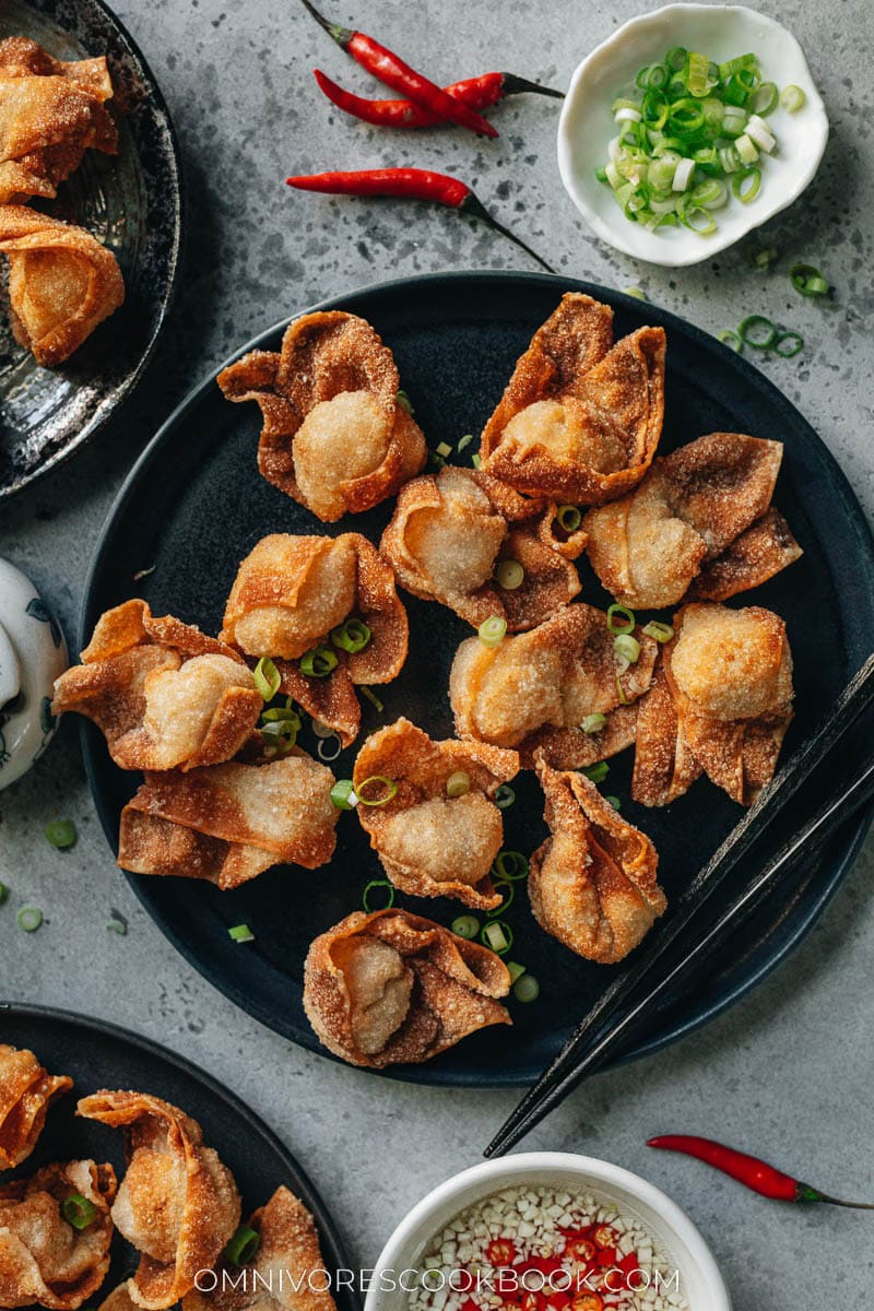
[[[537,762],[552,836],[531,857],[535,918],[571,952],[601,965],[621,961],[667,905],[659,857],[582,773]]]

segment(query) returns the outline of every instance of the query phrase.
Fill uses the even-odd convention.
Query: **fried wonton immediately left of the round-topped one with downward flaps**
[[[639,628],[634,637],[639,658],[622,670],[607,615],[577,603],[497,646],[468,638],[449,674],[459,737],[515,747],[527,768],[537,751],[561,770],[622,751],[634,741],[636,701],[650,687],[658,652]],[[605,718],[598,732],[582,728],[590,714]]]

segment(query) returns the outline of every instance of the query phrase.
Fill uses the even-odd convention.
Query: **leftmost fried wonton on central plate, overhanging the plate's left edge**
[[[193,770],[229,760],[263,708],[240,656],[144,600],[101,615],[81,665],[55,683],[52,713],[93,720],[122,770]]]

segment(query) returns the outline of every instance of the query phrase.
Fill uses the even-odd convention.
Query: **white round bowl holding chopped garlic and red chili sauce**
[[[385,1285],[417,1270],[428,1245],[459,1211],[502,1188],[545,1184],[594,1193],[630,1211],[676,1261],[691,1311],[731,1311],[731,1299],[709,1247],[689,1217],[660,1189],[628,1169],[570,1152],[523,1152],[473,1165],[440,1184],[401,1221],[376,1261],[364,1311],[406,1311],[408,1293]],[[410,1276],[406,1277],[408,1282]]]

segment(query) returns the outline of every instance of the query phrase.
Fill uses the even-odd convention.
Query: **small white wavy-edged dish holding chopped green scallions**
[[[731,197],[714,211],[717,231],[706,237],[681,225],[649,232],[630,223],[595,177],[617,131],[613,100],[633,85],[638,68],[663,59],[671,46],[698,50],[717,63],[756,54],[767,81],[781,90],[794,83],[807,97],[794,114],[777,106],[769,115],[777,148],[763,166],[759,195],[748,205]],[[709,260],[791,205],[819,168],[827,140],[826,106],[790,31],[743,5],[671,4],[629,20],[578,66],[558,123],[558,169],[599,237],[638,260],[676,267]]]

